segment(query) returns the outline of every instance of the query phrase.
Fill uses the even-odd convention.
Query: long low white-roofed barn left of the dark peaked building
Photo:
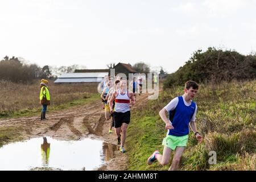
[[[83,82],[101,82],[105,76],[108,76],[108,72],[94,72],[94,73],[63,73],[55,84],[59,83],[83,83]]]

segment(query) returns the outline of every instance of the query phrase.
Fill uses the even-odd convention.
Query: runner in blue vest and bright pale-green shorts
[[[181,156],[187,146],[189,125],[195,137],[199,142],[203,141],[203,137],[199,134],[196,128],[196,112],[197,105],[193,102],[199,85],[195,81],[187,81],[183,96],[175,97],[167,106],[160,110],[159,115],[166,123],[167,137],[163,139],[162,145],[164,146],[163,155],[159,154],[156,150],[147,159],[147,164],[151,165],[155,160],[161,165],[169,164],[171,152],[175,151],[172,160],[170,171],[177,170]],[[167,113],[169,118],[167,118]]]

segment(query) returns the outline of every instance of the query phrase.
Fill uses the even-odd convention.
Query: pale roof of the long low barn
[[[59,78],[104,78],[106,75],[109,75],[109,73],[63,73]]]

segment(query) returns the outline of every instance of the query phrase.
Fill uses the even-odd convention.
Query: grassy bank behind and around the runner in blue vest
[[[167,170],[170,165],[148,166],[148,156],[158,149],[163,152],[165,124],[159,111],[183,87],[162,92],[158,100],[131,114],[127,130],[127,155],[130,170]],[[204,135],[199,144],[190,133],[188,146],[181,159],[181,170],[256,170],[256,80],[200,85],[195,101],[198,106],[197,127]],[[217,164],[209,165],[209,151],[216,151]]]

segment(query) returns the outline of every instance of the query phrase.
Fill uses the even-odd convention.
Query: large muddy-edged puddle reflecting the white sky
[[[62,170],[96,169],[114,156],[118,147],[101,140],[75,141],[40,137],[6,144],[0,148],[0,170],[57,168]]]

